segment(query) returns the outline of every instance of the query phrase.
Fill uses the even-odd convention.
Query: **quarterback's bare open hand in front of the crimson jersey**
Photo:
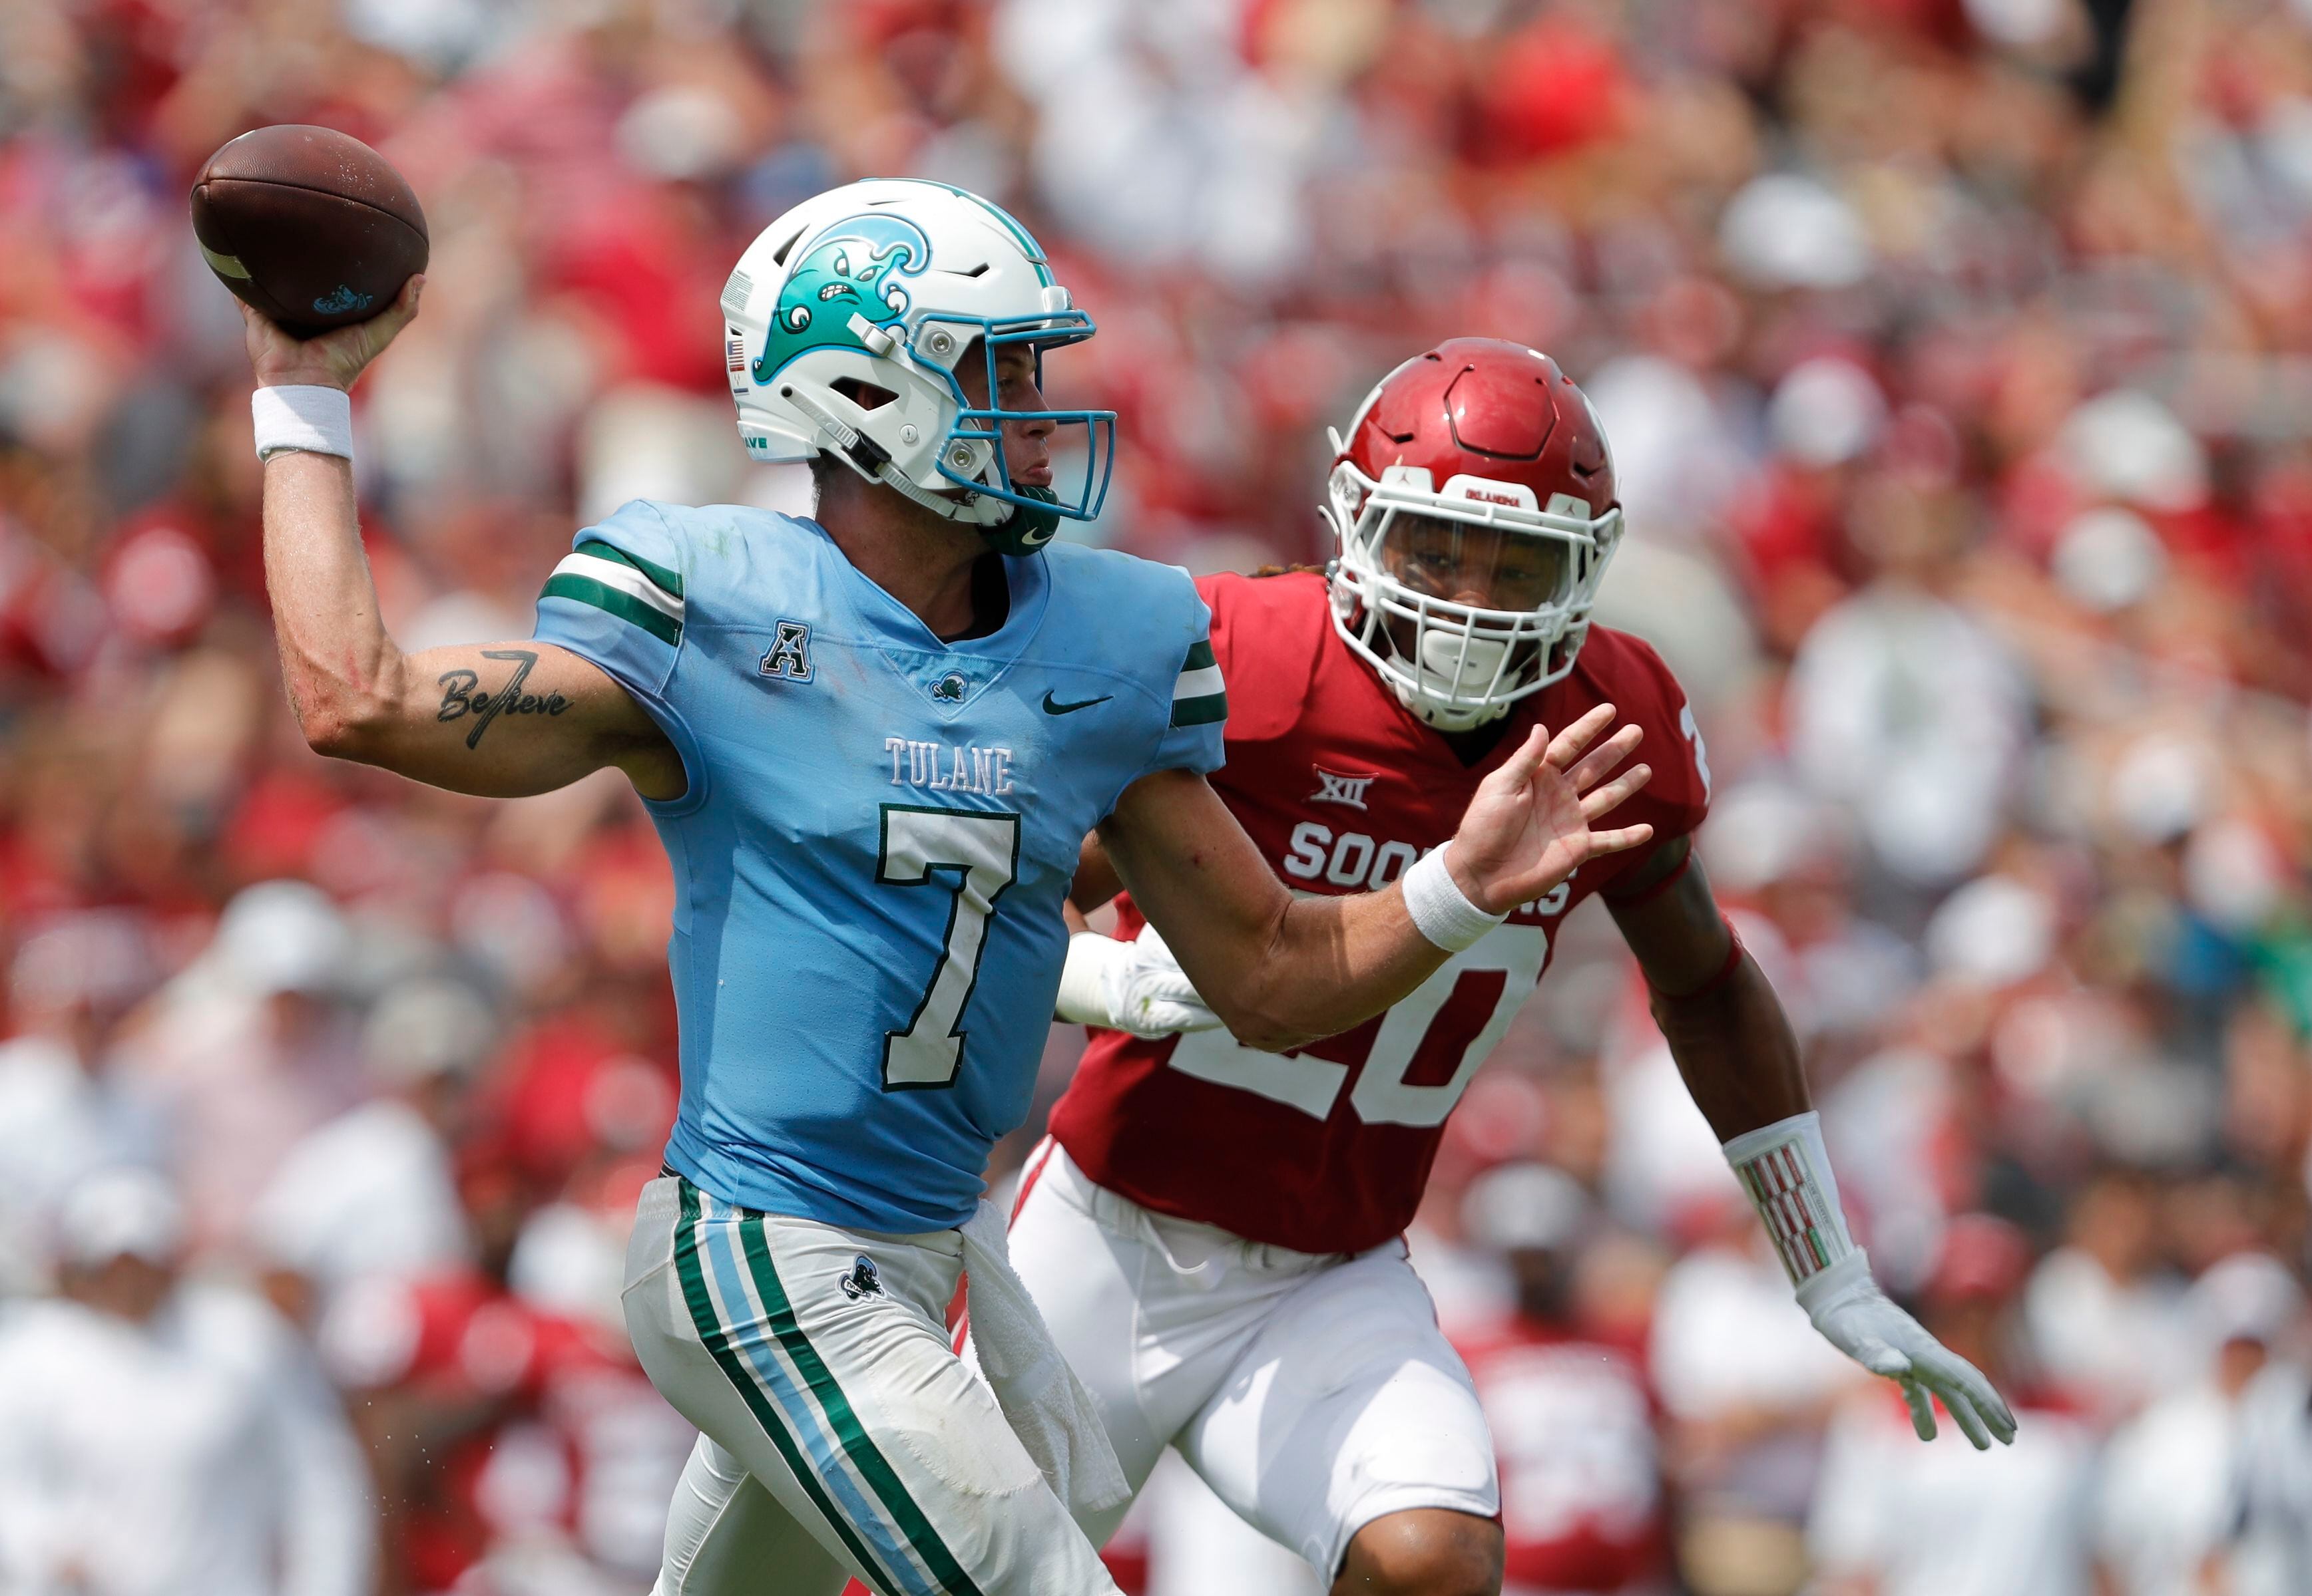
[[[1611,721],[1614,704],[1598,704],[1556,737],[1535,725],[1524,746],[1477,788],[1445,868],[1480,910],[1505,915],[1540,898],[1588,859],[1653,838],[1651,825],[1593,827],[1653,776],[1651,767],[1632,765],[1607,781],[1644,737],[1637,725],[1623,725],[1588,748]]]

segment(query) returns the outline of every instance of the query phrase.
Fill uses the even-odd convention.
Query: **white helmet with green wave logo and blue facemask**
[[[1094,335],[1020,222],[978,194],[869,178],[807,199],[765,226],[721,296],[724,367],[754,460],[832,453],[1006,554],[1091,520],[1114,464],[1114,411],[1006,411],[996,351],[1038,356]],[[987,363],[987,407],[964,400],[957,363]],[[1084,430],[1073,492],[1015,483],[1003,423]],[[1054,448],[1054,455],[1061,450]]]

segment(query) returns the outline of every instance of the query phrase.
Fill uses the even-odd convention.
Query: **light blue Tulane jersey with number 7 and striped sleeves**
[[[541,642],[640,700],[689,790],[675,866],[682,1111],[668,1164],[869,1231],[971,1217],[1027,1118],[1084,834],[1140,776],[1221,765],[1181,570],[1054,543],[941,642],[816,522],[636,501],[578,534]]]

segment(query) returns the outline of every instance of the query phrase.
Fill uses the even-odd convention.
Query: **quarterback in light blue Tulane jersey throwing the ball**
[[[659,1596],[1112,1591],[1080,1524],[1124,1478],[983,1201],[1084,834],[1211,1012],[1288,1049],[1646,841],[1593,829],[1637,730],[1537,730],[1399,882],[1295,901],[1205,783],[1228,700],[1186,573],[1052,543],[1107,490],[1114,416],[1040,393],[1091,319],[1020,222],[913,180],[805,201],[721,296],[742,446],[812,464],[812,520],[629,504],[532,637],[402,654],[347,390],[418,291],[310,342],[243,312],[282,674],[321,753],[497,797],[617,767],[666,843],[682,1109],[624,1305],[703,1434]],[[980,1372],[943,1323],[966,1263]]]

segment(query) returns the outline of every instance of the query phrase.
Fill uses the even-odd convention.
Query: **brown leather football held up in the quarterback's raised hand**
[[[298,337],[375,316],[425,270],[418,196],[328,127],[259,127],[210,155],[192,236],[217,282]]]

